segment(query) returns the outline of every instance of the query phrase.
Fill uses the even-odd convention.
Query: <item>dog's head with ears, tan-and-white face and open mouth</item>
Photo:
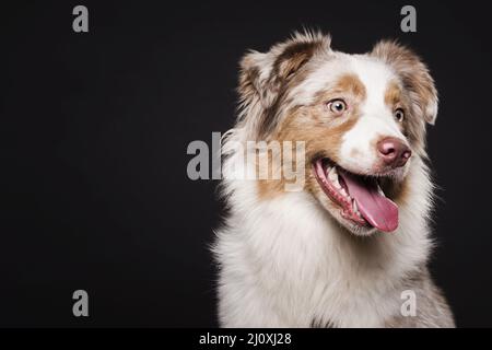
[[[393,43],[347,55],[332,51],[329,37],[306,34],[247,55],[242,67],[255,138],[304,141],[305,190],[351,232],[395,231],[395,201],[437,113],[419,58]]]

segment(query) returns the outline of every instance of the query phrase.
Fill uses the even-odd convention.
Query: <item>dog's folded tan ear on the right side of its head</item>
[[[422,60],[410,49],[387,40],[378,43],[371,55],[393,67],[409,91],[415,113],[434,125],[437,117],[437,91]]]

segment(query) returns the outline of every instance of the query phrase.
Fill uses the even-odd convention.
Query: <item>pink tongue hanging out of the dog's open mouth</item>
[[[339,172],[339,175],[370,224],[384,232],[393,232],[398,228],[398,206],[378,192],[375,180],[365,180],[345,172]]]

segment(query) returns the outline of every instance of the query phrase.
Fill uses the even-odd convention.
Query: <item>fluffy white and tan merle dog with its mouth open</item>
[[[212,248],[221,326],[455,327],[426,267],[425,129],[438,97],[423,61],[396,42],[349,55],[329,35],[296,32],[247,52],[237,90],[222,142],[227,213]],[[256,174],[241,147],[249,141],[303,142],[303,186],[232,176]],[[269,174],[285,162],[267,159]]]

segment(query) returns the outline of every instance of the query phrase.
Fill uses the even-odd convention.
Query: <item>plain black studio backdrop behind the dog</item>
[[[440,186],[432,260],[461,327],[492,326],[490,13],[481,2],[2,3],[0,326],[216,326],[208,252],[216,182],[192,140],[232,127],[237,62],[303,26],[364,52],[399,38],[441,94],[429,131]],[[90,33],[72,31],[72,9]],[[90,317],[72,316],[72,292]]]

